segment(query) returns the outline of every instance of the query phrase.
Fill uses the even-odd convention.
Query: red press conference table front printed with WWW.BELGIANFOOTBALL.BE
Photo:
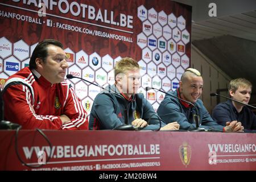
[[[185,131],[0,131],[0,170],[256,170],[256,134]],[[51,159],[46,163],[48,156]],[[46,163],[46,164],[45,164]]]

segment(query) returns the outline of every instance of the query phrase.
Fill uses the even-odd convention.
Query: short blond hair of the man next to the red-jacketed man
[[[131,57],[123,57],[120,61],[118,61],[115,64],[115,67],[114,67],[115,77],[119,73],[126,73],[126,71],[130,71],[133,69],[139,69],[139,64],[137,63],[137,61],[135,61]]]

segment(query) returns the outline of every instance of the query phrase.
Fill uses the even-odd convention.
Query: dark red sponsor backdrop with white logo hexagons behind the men
[[[170,0],[21,1],[0,3],[0,85],[27,67],[43,39],[57,39],[68,56],[68,74],[101,86],[114,84],[113,68],[130,56],[141,67],[139,92],[156,110],[177,88],[191,57],[191,6]],[[67,80],[86,111],[101,89]]]

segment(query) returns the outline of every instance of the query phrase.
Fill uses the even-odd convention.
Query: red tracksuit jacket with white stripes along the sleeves
[[[26,67],[6,80],[3,91],[5,119],[22,129],[88,130],[87,113],[65,81],[51,84]],[[62,125],[62,114],[71,121]]]

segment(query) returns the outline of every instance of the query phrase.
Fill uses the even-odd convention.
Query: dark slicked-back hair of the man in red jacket
[[[46,62],[46,57],[48,56],[48,45],[54,45],[63,49],[63,44],[54,39],[46,39],[39,42],[30,57],[30,69],[36,69],[36,58],[42,59],[44,63]]]

